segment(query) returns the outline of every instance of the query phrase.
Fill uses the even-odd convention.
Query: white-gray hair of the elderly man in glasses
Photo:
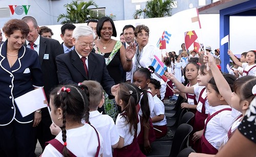
[[[76,40],[81,36],[90,36],[93,35],[93,39],[96,38],[94,31],[87,25],[78,26],[73,31],[73,38]]]

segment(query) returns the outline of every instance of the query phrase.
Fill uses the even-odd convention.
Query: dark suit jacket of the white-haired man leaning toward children
[[[84,80],[93,80],[101,84],[105,92],[110,95],[111,87],[115,85],[106,69],[105,58],[90,53],[88,56],[89,78],[75,49],[56,58],[58,79],[60,84],[78,84]]]

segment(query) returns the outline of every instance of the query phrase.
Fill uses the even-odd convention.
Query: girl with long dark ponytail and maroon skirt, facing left
[[[116,103],[121,107],[121,113],[116,119],[116,127],[120,140],[113,156],[145,156],[138,145],[137,136],[140,133],[140,118],[137,114],[137,106],[141,98],[141,92],[133,84],[121,83],[116,92]],[[146,95],[145,91],[144,94]],[[144,97],[146,98],[146,97]],[[143,98],[142,98],[143,99]]]

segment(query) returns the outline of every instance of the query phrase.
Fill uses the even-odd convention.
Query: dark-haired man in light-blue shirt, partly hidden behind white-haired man
[[[60,28],[60,37],[63,40],[60,45],[63,49],[63,53],[65,54],[74,49],[74,45],[72,43],[72,34],[75,28],[76,26],[72,23],[63,24]]]

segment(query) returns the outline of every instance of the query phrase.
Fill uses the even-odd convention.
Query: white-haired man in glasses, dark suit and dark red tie
[[[95,33],[90,27],[75,28],[73,31],[75,49],[56,58],[59,83],[77,84],[84,80],[93,80],[99,82],[105,92],[111,96],[111,89],[112,92],[116,90],[115,82],[106,69],[104,57],[91,53],[94,39]]]

